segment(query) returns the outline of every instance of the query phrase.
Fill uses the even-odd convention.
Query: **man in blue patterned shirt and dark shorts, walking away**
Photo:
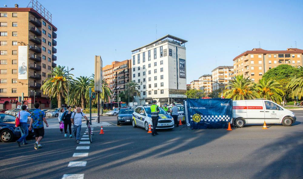
[[[31,115],[31,123],[29,125],[28,130],[34,129],[36,142],[34,143],[34,147],[37,150],[38,148],[41,148],[42,145],[40,144],[42,138],[44,137],[44,125],[43,122],[46,124],[46,127],[48,127],[48,123],[45,119],[45,113],[44,111],[40,110],[40,104],[35,103],[34,104],[35,110],[32,112]]]

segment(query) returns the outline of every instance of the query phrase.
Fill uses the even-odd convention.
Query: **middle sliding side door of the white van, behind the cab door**
[[[247,121],[248,123],[263,123],[265,109],[263,100],[247,100]]]

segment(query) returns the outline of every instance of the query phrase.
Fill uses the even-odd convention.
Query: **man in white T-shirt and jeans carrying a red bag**
[[[19,124],[19,130],[21,133],[21,137],[16,141],[16,143],[20,147],[20,143],[23,142],[23,145],[26,145],[26,137],[28,135],[28,127],[27,127],[27,117],[31,116],[31,113],[28,112],[28,108],[26,105],[23,105],[21,107],[22,111],[19,111],[17,116],[20,116],[20,124]]]

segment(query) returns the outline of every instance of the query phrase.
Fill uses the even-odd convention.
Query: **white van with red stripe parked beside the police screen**
[[[236,100],[233,104],[233,123],[238,127],[245,124],[279,123],[291,126],[296,121],[295,113],[269,100]]]

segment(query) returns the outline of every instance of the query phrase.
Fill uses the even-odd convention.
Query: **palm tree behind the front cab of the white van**
[[[255,90],[259,93],[261,98],[280,103],[282,101],[282,97],[279,94],[282,96],[284,95],[283,90],[280,89],[281,87],[282,85],[275,80],[262,78],[255,85]]]

